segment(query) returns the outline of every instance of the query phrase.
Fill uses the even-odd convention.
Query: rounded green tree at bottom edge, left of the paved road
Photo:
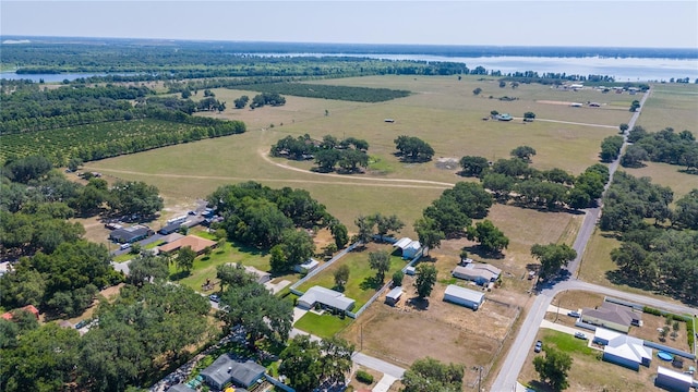
[[[416,360],[402,378],[405,392],[460,392],[464,366],[443,364],[432,357]]]

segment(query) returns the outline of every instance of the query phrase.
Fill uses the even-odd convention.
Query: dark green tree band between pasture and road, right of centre
[[[521,207],[580,209],[595,205],[609,181],[609,168],[597,163],[578,176],[557,168],[541,171],[530,167],[534,154],[533,148],[520,146],[510,159],[493,164],[484,157],[466,156],[460,159],[460,174],[479,177],[498,200]]]

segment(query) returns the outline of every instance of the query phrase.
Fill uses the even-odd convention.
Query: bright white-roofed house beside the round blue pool
[[[650,366],[652,348],[645,341],[605,328],[597,328],[593,342],[603,345],[603,360],[639,370],[640,365]]]

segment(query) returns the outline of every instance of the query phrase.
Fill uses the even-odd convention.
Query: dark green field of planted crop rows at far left
[[[56,164],[65,164],[70,158],[99,160],[244,132],[243,123],[234,123],[227,126],[202,126],[144,119],[2,135],[0,161],[32,155],[47,157]]]

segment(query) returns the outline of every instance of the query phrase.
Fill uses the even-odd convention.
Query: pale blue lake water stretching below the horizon
[[[268,57],[356,57],[385,60],[413,60],[413,61],[448,61],[461,62],[469,69],[483,66],[488,71],[510,72],[534,71],[539,74],[553,72],[573,75],[609,75],[616,82],[669,82],[671,78],[688,77],[690,83],[698,79],[698,59],[655,59],[655,58],[552,58],[552,57],[443,57],[430,54],[327,54],[327,53],[254,53],[253,56]],[[104,74],[70,73],[70,74],[22,74],[2,72],[0,78],[21,79],[28,78],[34,82],[44,79],[46,83],[74,81],[80,77],[89,77]]]

